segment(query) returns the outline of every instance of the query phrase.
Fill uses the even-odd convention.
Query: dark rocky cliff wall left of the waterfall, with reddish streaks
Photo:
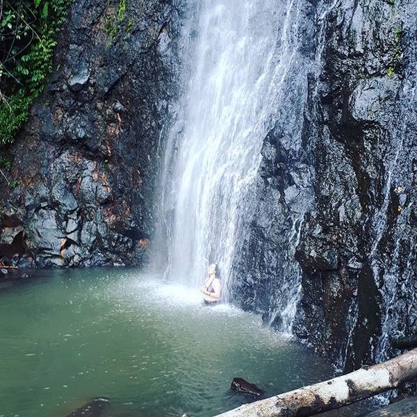
[[[177,89],[180,3],[74,2],[56,71],[12,149],[19,186],[0,184],[6,261],[142,263]]]

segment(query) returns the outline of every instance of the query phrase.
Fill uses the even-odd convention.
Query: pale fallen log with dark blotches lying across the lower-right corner
[[[309,417],[395,389],[416,377],[417,349],[414,349],[389,361],[244,404],[215,417]]]

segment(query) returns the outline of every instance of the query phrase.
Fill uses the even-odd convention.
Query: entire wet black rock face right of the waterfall
[[[398,353],[391,335],[417,331],[407,309],[416,303],[417,2],[313,7],[302,146],[288,145],[284,108],[264,141],[246,242],[255,258],[241,262],[235,296],[282,328],[288,309],[275,300],[300,282],[293,332],[349,370]]]

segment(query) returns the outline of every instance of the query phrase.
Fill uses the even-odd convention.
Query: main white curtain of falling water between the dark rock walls
[[[263,140],[284,107],[288,74],[300,66],[298,7],[207,0],[190,13],[189,82],[167,140],[155,243],[168,279],[199,286],[215,262],[228,293],[255,207]]]

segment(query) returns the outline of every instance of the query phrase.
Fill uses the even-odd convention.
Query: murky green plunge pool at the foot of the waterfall
[[[42,270],[0,287],[0,416],[66,416],[94,397],[103,416],[213,416],[317,382],[330,366],[231,306],[137,270]]]

